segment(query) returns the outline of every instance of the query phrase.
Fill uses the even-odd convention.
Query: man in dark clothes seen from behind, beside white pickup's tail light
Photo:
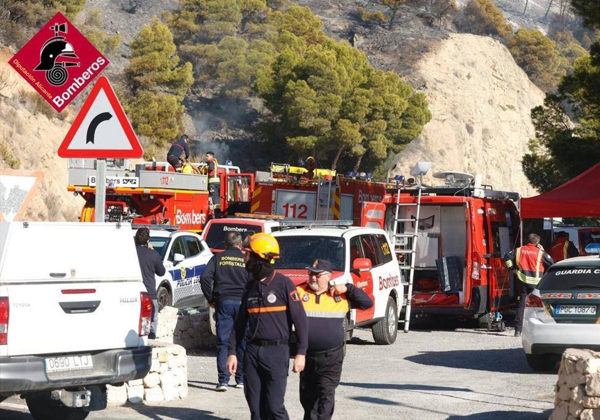
[[[142,281],[150,299],[152,300],[152,322],[150,323],[150,334],[148,338],[156,336],[156,319],[158,316],[158,299],[156,296],[156,278],[154,275],[164,275],[166,269],[163,265],[163,259],[160,254],[150,245],[150,231],[145,227],[137,229],[135,241],[137,251],[137,261],[142,271]]]

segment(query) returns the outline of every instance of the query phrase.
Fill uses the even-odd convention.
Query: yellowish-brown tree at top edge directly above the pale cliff
[[[461,9],[458,26],[475,35],[508,37],[512,26],[506,23],[502,11],[491,0],[470,0]]]

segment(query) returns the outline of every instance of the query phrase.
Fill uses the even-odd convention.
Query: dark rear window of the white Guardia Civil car
[[[600,287],[600,266],[562,266],[550,269],[539,290],[596,289]]]

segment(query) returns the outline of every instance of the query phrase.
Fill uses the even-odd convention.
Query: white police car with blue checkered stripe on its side
[[[179,309],[206,307],[200,289],[200,275],[212,252],[202,236],[178,230],[150,230],[150,244],[163,258],[167,272],[157,276],[158,307],[173,306]]]

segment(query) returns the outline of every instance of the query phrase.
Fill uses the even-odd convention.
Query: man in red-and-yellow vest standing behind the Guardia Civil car
[[[539,235],[530,233],[526,245],[505,255],[506,266],[509,270],[515,270],[517,278],[521,281],[521,298],[515,317],[515,337],[521,337],[527,295],[538,285],[545,269],[554,263],[552,257],[544,251],[539,239]]]

